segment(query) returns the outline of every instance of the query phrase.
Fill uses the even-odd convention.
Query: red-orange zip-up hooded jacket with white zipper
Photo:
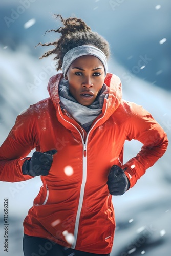
[[[58,84],[62,74],[50,78],[50,98],[17,117],[0,149],[0,180],[24,181],[22,165],[33,148],[56,148],[48,176],[24,221],[24,232],[48,238],[62,246],[91,253],[111,252],[115,218],[106,182],[112,165],[127,167],[131,187],[166,151],[167,137],[151,114],[122,100],[120,79],[108,74],[110,87],[102,113],[89,133],[59,105]],[[143,146],[136,157],[122,165],[125,140]]]

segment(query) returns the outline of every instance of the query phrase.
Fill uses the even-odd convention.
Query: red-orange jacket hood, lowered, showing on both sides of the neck
[[[58,87],[60,79],[63,77],[62,73],[52,76],[48,83],[48,92],[57,110],[60,99],[58,94]],[[104,98],[102,113],[109,118],[118,108],[122,100],[122,86],[120,78],[114,74],[108,73],[105,77],[104,83],[110,88],[109,97]],[[106,111],[107,108],[107,111]]]

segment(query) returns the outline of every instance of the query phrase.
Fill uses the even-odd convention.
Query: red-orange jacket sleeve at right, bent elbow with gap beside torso
[[[153,166],[167,149],[167,135],[162,127],[142,106],[131,103],[127,122],[127,140],[138,140],[143,146],[138,154],[125,163],[125,174],[133,187],[146,169]]]

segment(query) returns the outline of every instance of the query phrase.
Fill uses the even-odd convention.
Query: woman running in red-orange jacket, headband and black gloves
[[[50,98],[17,117],[1,146],[1,180],[41,175],[42,187],[24,221],[25,256],[109,255],[122,195],[166,151],[167,137],[151,114],[122,99],[121,81],[107,73],[108,42],[81,19],[53,30],[57,70]],[[143,146],[123,165],[125,140]],[[32,157],[26,157],[36,148]]]

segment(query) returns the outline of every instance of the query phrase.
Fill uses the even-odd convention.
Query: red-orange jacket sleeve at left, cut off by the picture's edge
[[[25,181],[33,178],[23,175],[25,157],[36,146],[36,133],[30,109],[19,115],[8,137],[0,147],[0,180],[8,182]]]

